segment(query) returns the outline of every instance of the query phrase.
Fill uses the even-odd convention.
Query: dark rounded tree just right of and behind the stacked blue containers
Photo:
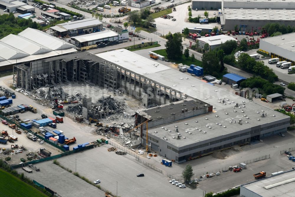
[[[215,51],[209,51],[202,56],[202,67],[204,68],[204,74],[213,75],[214,72],[218,72],[221,68],[219,59],[216,56]]]

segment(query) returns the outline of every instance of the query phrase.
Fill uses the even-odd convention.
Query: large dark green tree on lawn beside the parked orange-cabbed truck
[[[182,51],[183,51],[183,46],[182,46],[182,37],[180,33],[174,33],[172,34],[169,32],[166,36],[166,53],[167,57],[169,59],[180,59],[182,57]]]

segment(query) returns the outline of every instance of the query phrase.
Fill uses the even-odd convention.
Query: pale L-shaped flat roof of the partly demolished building
[[[171,88],[172,91],[184,93],[188,98],[195,98],[213,106],[213,113],[164,126],[169,128],[169,130],[176,130],[175,126],[177,125],[181,131],[182,137],[187,137],[185,139],[173,139],[172,137],[176,135],[176,132],[170,133],[161,129],[161,127],[149,130],[152,135],[156,135],[160,138],[165,135],[166,138],[168,138],[168,142],[176,146],[184,146],[220,135],[227,135],[277,120],[289,120],[288,116],[237,96],[235,92],[224,90],[220,85],[209,85],[187,73],[179,72],[164,66],[160,61],[152,61],[149,58],[142,57],[126,49],[118,49],[96,55],[106,59],[108,62],[112,62],[114,65],[117,64],[122,68],[131,70],[134,74],[143,75],[143,77],[149,81],[155,82],[159,87],[162,85],[166,88]],[[169,90],[166,89],[166,91]],[[178,96],[180,96],[180,94],[178,94]],[[183,96],[183,94],[181,96]],[[222,100],[225,101],[224,104]],[[243,101],[245,101],[245,103],[243,103]],[[236,104],[240,104],[240,106],[235,107]],[[267,114],[267,116],[261,117],[262,113]],[[273,117],[272,115],[275,116]],[[246,117],[249,119],[246,119]],[[205,118],[208,118],[208,120],[205,120]],[[242,125],[234,121],[236,120],[236,122],[239,122],[239,119],[242,119]],[[185,123],[188,123],[188,125],[185,125]],[[221,126],[216,123],[221,124]],[[206,125],[208,127],[206,127]],[[210,129],[209,126],[212,128]],[[196,130],[196,128],[202,131],[200,132]],[[192,134],[188,134],[184,132],[185,130],[193,132]],[[158,133],[154,133],[154,131],[158,131]],[[207,133],[203,133],[204,131]]]

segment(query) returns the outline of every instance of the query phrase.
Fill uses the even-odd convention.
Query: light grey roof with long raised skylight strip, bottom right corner
[[[241,185],[241,187],[246,188],[260,196],[290,197],[295,196],[294,177],[295,171],[292,170],[289,172],[284,172],[275,176],[270,176],[265,179],[255,181],[253,183]]]

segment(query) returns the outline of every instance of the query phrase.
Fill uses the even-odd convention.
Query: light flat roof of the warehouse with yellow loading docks
[[[295,51],[293,47],[295,45],[295,33],[288,33],[274,37],[263,38],[261,40],[279,46],[283,49],[287,49],[289,51]]]

